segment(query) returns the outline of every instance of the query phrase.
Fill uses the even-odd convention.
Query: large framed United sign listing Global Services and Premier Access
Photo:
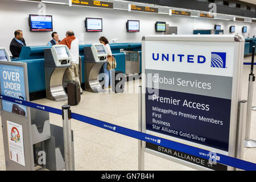
[[[142,121],[146,132],[234,156],[242,39],[241,43],[234,35],[145,39]]]

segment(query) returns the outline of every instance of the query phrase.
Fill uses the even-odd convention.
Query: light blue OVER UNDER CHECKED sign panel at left
[[[26,100],[24,69],[16,65],[0,64],[1,94]],[[20,101],[22,104],[22,101]],[[2,110],[27,117],[26,106],[2,100]]]

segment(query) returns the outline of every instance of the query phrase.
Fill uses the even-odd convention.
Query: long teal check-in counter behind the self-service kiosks
[[[117,61],[116,71],[125,73],[125,53],[123,51],[139,51],[141,64],[141,43],[113,43],[109,44],[115,60]],[[81,57],[81,85],[84,88],[84,47],[90,47],[92,44],[83,44],[79,46],[79,55]],[[28,89],[30,92],[30,100],[46,98],[46,81],[44,73],[44,49],[51,46],[30,46],[22,47],[18,59],[11,61],[19,61],[27,63],[28,70]],[[141,68],[141,66],[140,66]],[[141,73],[141,69],[140,69]]]

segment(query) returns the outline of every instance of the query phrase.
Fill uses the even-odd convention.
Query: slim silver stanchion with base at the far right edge
[[[245,147],[255,148],[256,141],[250,140],[250,126],[251,126],[251,106],[253,101],[253,84],[255,81],[255,76],[253,74],[253,65],[254,65],[254,55],[255,55],[255,46],[253,46],[253,55],[251,57],[251,72],[249,74],[249,87],[248,87],[248,104],[247,104],[247,114],[246,114],[246,135],[245,135]]]

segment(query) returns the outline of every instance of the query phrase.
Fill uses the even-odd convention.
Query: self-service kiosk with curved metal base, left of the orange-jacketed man
[[[46,98],[53,101],[68,100],[63,87],[63,76],[71,67],[71,54],[65,45],[55,45],[44,49],[44,68],[46,73]]]

